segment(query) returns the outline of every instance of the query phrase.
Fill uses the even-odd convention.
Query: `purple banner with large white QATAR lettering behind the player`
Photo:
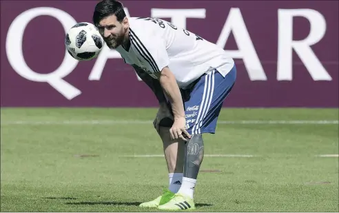
[[[65,54],[65,31],[97,2],[1,1],[1,107],[157,106],[114,50]],[[224,48],[238,69],[227,107],[338,108],[338,1],[122,2]]]

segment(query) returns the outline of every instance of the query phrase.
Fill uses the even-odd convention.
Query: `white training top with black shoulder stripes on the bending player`
[[[154,79],[154,72],[168,66],[179,88],[185,88],[201,75],[217,69],[224,77],[234,61],[223,48],[162,19],[129,18],[130,50],[116,48],[125,63],[143,68]]]

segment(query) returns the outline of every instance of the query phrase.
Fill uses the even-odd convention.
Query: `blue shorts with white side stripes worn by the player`
[[[201,76],[194,86],[181,90],[189,134],[216,132],[220,110],[236,81],[236,65],[223,77],[218,70]]]

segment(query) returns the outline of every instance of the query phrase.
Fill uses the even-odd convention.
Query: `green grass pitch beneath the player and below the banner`
[[[138,204],[167,187],[165,159],[133,156],[163,154],[155,113],[2,108],[1,212],[159,212]],[[205,154],[224,155],[203,161],[196,212],[339,211],[338,109],[224,109],[219,120],[237,122],[205,136]]]

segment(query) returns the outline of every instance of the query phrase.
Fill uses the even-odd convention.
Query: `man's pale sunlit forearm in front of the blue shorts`
[[[172,74],[169,68],[164,68],[162,70],[159,81],[164,92],[167,94],[167,98],[170,99],[174,119],[185,117],[181,92],[178,88],[178,84],[176,83],[174,74]]]

